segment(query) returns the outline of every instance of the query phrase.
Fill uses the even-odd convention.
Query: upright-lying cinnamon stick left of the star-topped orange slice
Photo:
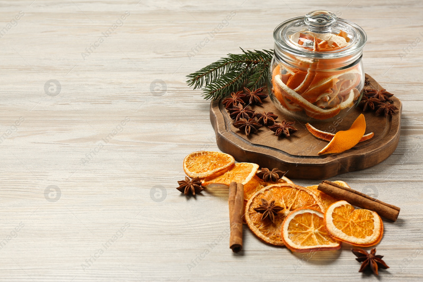
[[[233,252],[242,250],[242,210],[244,207],[244,185],[231,182],[229,185],[229,222],[231,235],[229,247]]]

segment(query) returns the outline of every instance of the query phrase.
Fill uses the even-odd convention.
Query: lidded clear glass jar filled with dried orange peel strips
[[[299,120],[332,121],[357,106],[367,40],[361,27],[318,10],[281,23],[273,38],[269,90],[277,109]]]

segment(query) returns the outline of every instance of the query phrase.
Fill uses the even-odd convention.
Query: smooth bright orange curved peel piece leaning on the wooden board
[[[335,136],[330,140],[318,154],[341,153],[349,150],[361,140],[366,131],[366,121],[363,114],[360,114],[352,123],[348,130],[336,132]]]

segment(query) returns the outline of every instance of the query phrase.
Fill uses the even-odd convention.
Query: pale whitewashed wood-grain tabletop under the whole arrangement
[[[0,7],[0,281],[423,279],[422,1],[14,0]],[[378,278],[358,273],[347,244],[291,254],[246,226],[243,251],[233,254],[228,189],[196,198],[175,189],[184,156],[218,150],[210,101],[185,76],[239,47],[272,48],[280,22],[317,9],[363,27],[365,71],[403,103],[396,151],[330,178],[401,207],[397,222],[384,222],[377,254],[390,268]]]

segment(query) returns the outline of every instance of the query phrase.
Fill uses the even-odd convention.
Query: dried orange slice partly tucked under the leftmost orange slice
[[[229,187],[232,181],[237,183],[247,184],[253,178],[255,172],[258,170],[258,164],[249,162],[239,162],[233,164],[231,167],[220,170],[212,175],[203,178],[202,186],[204,187]]]

